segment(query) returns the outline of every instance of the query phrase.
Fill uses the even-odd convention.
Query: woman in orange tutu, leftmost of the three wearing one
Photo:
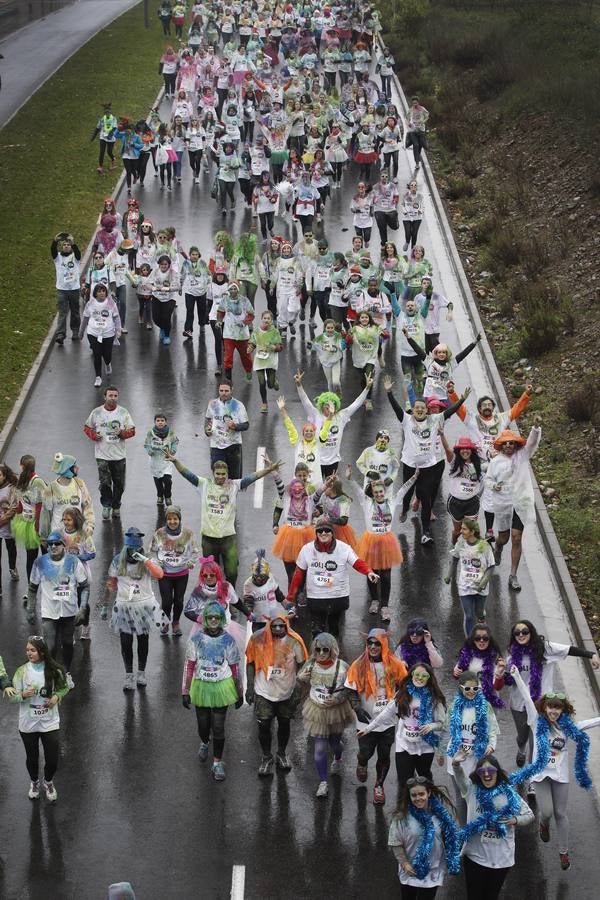
[[[275,479],[279,494],[273,509],[273,556],[283,561],[288,576],[288,588],[296,570],[296,560],[302,547],[315,539],[311,524],[314,511],[314,490],[309,483],[306,463],[298,463],[294,477],[286,486],[280,476]],[[300,604],[302,605],[302,604]]]

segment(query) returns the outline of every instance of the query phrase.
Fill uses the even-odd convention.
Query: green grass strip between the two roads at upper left
[[[109,175],[105,161],[105,174],[96,173],[90,136],[102,104],[145,118],[162,83],[165,39],[158,19],[144,28],[142,8],[92,38],[0,133],[0,427],[56,310],[50,242],[64,229],[83,252],[121,172],[119,163]]]

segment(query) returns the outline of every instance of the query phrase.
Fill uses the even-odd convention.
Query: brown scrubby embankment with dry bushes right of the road
[[[429,158],[509,396],[538,387],[534,468],[598,641],[598,14],[566,0],[380,6],[400,80],[431,113]]]

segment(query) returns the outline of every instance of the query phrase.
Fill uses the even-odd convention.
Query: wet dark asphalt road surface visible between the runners
[[[408,175],[401,154],[401,176]],[[348,214],[350,190],[356,173],[345,175],[344,190],[334,194],[328,207],[325,233],[333,249],[346,249],[351,239]],[[159,227],[172,224],[185,247],[198,244],[209,254],[212,235],[222,227],[222,218],[208,197],[210,180],[193,187],[189,169],[184,166],[183,185],[172,194],[158,189],[158,180],[150,173],[146,187],[136,189],[145,216]],[[119,204],[123,206],[123,201]],[[235,233],[248,228],[250,212],[241,198],[235,216],[228,214],[227,225]],[[290,223],[277,221],[276,230],[290,234]],[[344,229],[347,229],[344,232]],[[342,233],[343,232],[343,233]],[[399,237],[399,235],[398,235]],[[427,222],[422,238],[428,256],[437,261],[439,247],[433,246]],[[373,242],[376,246],[376,241]],[[400,241],[401,243],[401,241]],[[262,291],[257,308],[265,308]],[[208,441],[202,424],[207,400],[215,395],[215,362],[212,335],[183,344],[183,300],[177,313],[174,340],[170,348],[160,347],[157,334],[138,329],[136,301],[129,297],[129,335],[117,348],[113,359],[112,381],[121,390],[121,402],[132,413],[137,436],[128,442],[128,481],[124,496],[122,523],[99,522],[96,528],[98,555],[93,564],[92,602],[101,596],[105,574],[113,554],[121,546],[122,529],[130,524],[141,527],[149,541],[160,523],[154,502],[154,487],[142,444],[145,432],[157,410],[164,410],[181,438],[180,457],[194,471],[208,471]],[[300,404],[292,381],[295,369],[307,370],[306,389],[314,396],[322,389],[320,371],[304,346],[307,329],[300,329],[295,340],[281,354],[280,382],[288,398],[295,421],[302,421]],[[452,346],[459,339],[454,326],[446,326],[443,336]],[[393,348],[393,344],[392,344]],[[395,354],[389,353],[389,370],[399,371]],[[313,357],[314,359],[314,357]],[[472,360],[469,376],[478,376],[477,361]],[[464,367],[457,379],[460,387],[469,373]],[[345,363],[343,375],[345,402],[360,390],[358,373]],[[25,452],[38,459],[38,471],[48,476],[56,450],[77,456],[81,476],[92,489],[99,513],[96,469],[91,443],[82,433],[82,424],[97,405],[99,392],[93,388],[91,357],[85,344],[67,342],[54,349],[46,370],[38,382],[19,430],[11,442],[7,461],[16,466]],[[241,369],[234,369],[235,395],[246,404],[251,418],[250,431],[244,436],[244,470],[254,468],[258,446],[266,446],[272,458],[287,461],[285,475],[290,477],[290,450],[280,424],[274,395],[270,395],[268,416],[258,414],[259,395],[255,382],[248,385]],[[373,442],[379,427],[385,425],[397,441],[395,417],[385,399],[380,375],[374,392],[372,413],[360,410],[348,427],[343,445],[345,461],[354,461],[362,449]],[[458,433],[456,421],[448,427],[451,438]],[[174,498],[183,507],[186,524],[195,530],[200,518],[197,495],[174,475]],[[240,578],[246,577],[254,550],[271,543],[271,509],[274,488],[265,482],[264,500],[253,507],[254,488],[242,496],[239,504]],[[444,499],[437,505],[438,522],[433,526],[434,548],[422,548],[420,525],[409,516],[400,526],[405,563],[394,573],[392,588],[393,618],[391,631],[398,636],[402,625],[416,612],[427,617],[436,643],[443,653],[443,684],[453,692],[449,677],[461,644],[461,615],[458,601],[442,583],[449,549],[450,526]],[[357,531],[362,527],[360,511],[351,521]],[[568,640],[564,620],[553,618],[549,598],[536,585],[544,584],[543,575],[532,554],[533,568],[523,564],[520,573],[522,594],[517,599],[506,592],[508,561],[501,574],[492,579],[488,616],[502,645],[510,623],[518,616],[540,621],[546,613],[546,633],[557,640]],[[275,573],[285,586],[283,567],[274,564]],[[0,605],[0,651],[9,672],[22,660],[22,648],[30,629],[23,617],[20,596],[25,588],[24,558],[19,559],[21,582],[4,582],[4,600]],[[362,634],[371,627],[367,614],[364,579],[353,578],[352,608],[342,632],[346,659],[355,658],[362,649]],[[548,627],[548,617],[550,627]],[[303,630],[303,628],[301,628]],[[187,623],[186,623],[187,631]],[[105,895],[105,886],[113,881],[130,880],[140,900],[163,898],[206,898],[225,900],[229,896],[234,864],[246,867],[246,897],[252,900],[296,900],[315,896],[357,898],[399,896],[396,866],[386,848],[387,825],[394,805],[396,776],[392,768],[387,781],[388,802],[382,808],[371,803],[373,772],[367,786],[354,775],[356,741],[346,733],[344,772],[332,779],[327,801],[317,801],[317,778],[300,722],[293,726],[290,756],[293,770],[287,776],[259,780],[256,769],[260,757],[253,712],[248,707],[231,710],[228,716],[225,761],[227,780],[215,784],[206,766],[196,758],[198,739],[193,712],[180,702],[180,680],[185,638],[180,641],[151,640],[148,663],[148,687],[133,695],[123,695],[122,663],[116,636],[106,623],[92,616],[92,641],[89,647],[78,645],[73,663],[75,691],[61,709],[62,759],[56,776],[58,803],[31,803],[27,799],[28,777],[16,727],[16,709],[0,705],[2,741],[0,742],[0,897],[6,900],[95,900]],[[568,663],[572,668],[574,662]],[[584,710],[580,710],[583,715]],[[586,710],[585,714],[592,714]],[[514,760],[513,726],[510,716],[500,713],[502,736],[499,757],[507,767]],[[594,741],[594,736],[592,736]],[[372,767],[371,767],[372,769]],[[446,782],[443,770],[438,770]],[[600,828],[593,797],[577,787],[571,788],[573,868],[561,873],[554,839],[540,844],[535,826],[523,829],[517,841],[517,865],[505,889],[507,897],[542,900],[574,900],[590,896],[590,885],[600,878],[597,848]],[[462,881],[450,879],[439,897],[458,900],[464,896]]]

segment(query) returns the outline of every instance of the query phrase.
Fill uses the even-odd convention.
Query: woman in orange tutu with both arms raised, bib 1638
[[[371,596],[369,612],[372,615],[379,613],[386,622],[390,619],[388,602],[392,587],[392,569],[403,561],[398,538],[392,531],[392,522],[398,504],[415,483],[416,474],[405,481],[394,495],[386,498],[386,486],[383,481],[370,481],[363,491],[352,481],[352,466],[346,467],[346,478],[363,508],[367,526],[360,536],[356,552],[380,577],[379,583],[369,582]]]

